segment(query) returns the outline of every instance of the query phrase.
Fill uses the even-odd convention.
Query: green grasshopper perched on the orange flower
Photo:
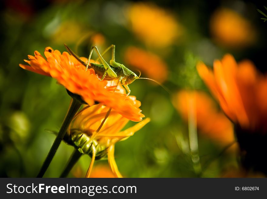
[[[76,55],[66,44],[64,44],[67,51],[73,55],[79,62],[81,62],[84,66],[86,66],[86,70],[88,67],[93,68],[96,75],[101,78],[101,80],[119,80],[121,84],[125,87],[127,90],[127,95],[130,94],[131,90],[129,88],[129,84],[133,83],[134,80],[136,79],[141,79],[138,77],[133,71],[131,71],[129,68],[124,66],[123,64],[117,63],[115,61],[115,45],[110,45],[108,48],[106,48],[105,51],[103,51],[102,55],[100,54],[99,50],[97,49],[96,46],[93,46],[90,55],[88,58],[87,64],[82,61],[78,55]],[[110,60],[110,65],[103,59],[103,55],[109,50],[112,49],[111,53],[111,60]],[[93,50],[96,51],[98,59],[102,62],[102,64],[96,64],[89,62],[93,53]],[[90,64],[90,65],[89,65]],[[144,78],[142,78],[144,79]],[[146,78],[148,79],[148,78]]]

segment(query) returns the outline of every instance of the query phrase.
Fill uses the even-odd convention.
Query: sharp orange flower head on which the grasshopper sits
[[[55,78],[70,92],[80,95],[89,105],[95,101],[104,104],[132,121],[141,121],[144,115],[139,109],[141,103],[134,96],[127,96],[120,85],[116,89],[116,82],[100,81],[93,69],[85,71],[85,67],[67,52],[60,53],[50,47],[45,48],[45,58],[38,51],[35,56],[28,55],[30,66],[19,66],[41,75]],[[86,58],[82,58],[86,61]]]

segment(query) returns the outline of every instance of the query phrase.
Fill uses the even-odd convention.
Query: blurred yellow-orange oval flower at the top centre
[[[170,12],[153,4],[135,3],[127,16],[133,32],[149,46],[166,47],[183,33]]]

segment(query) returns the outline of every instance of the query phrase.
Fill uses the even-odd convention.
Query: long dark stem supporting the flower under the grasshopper
[[[50,151],[47,154],[46,160],[44,161],[37,177],[43,177],[43,175],[45,174],[47,168],[49,167],[49,164],[51,163],[54,155],[56,154],[56,150],[58,149],[59,144],[61,140],[63,139],[71,120],[73,119],[76,112],[79,110],[80,106],[81,106],[80,102],[73,99],[73,101],[70,104],[69,111],[67,112],[67,115],[64,118],[62,126],[59,129],[59,133],[57,134],[56,139],[54,143],[52,144],[52,147],[50,148]]]

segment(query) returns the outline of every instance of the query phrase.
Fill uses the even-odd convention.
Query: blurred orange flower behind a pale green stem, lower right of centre
[[[174,98],[174,105],[182,118],[188,120],[189,102],[193,101],[196,125],[199,132],[220,144],[230,144],[234,138],[231,122],[216,108],[212,99],[201,91],[179,91]]]

